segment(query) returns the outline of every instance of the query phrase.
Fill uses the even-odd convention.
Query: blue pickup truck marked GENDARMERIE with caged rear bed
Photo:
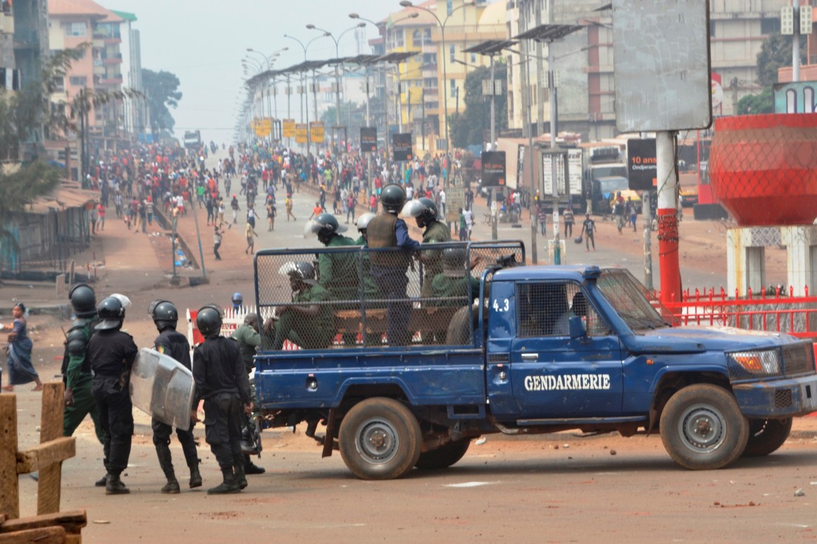
[[[405,270],[404,298],[371,281],[386,257]],[[681,327],[627,270],[524,263],[519,242],[413,259],[258,252],[262,425],[305,423],[324,457],[339,449],[359,478],[393,479],[453,465],[480,435],[561,430],[657,432],[680,466],[717,469],[774,452],[792,417],[817,410],[809,341]]]

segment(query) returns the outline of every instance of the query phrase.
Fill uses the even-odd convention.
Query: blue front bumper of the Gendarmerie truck
[[[746,417],[796,417],[817,412],[817,374],[732,384]]]

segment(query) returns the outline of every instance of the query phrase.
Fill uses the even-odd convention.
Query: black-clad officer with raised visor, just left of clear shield
[[[131,457],[133,404],[129,381],[138,348],[133,337],[121,329],[125,305],[118,297],[108,297],[96,308],[100,322],[87,344],[87,357],[94,374],[92,392],[105,432],[108,470],[106,495],[130,493],[120,475]]]

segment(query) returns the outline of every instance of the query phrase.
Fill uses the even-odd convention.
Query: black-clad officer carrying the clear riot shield
[[[176,359],[185,368],[190,366],[190,343],[187,337],[176,331],[176,323],[179,320],[179,311],[171,301],[153,301],[148,307],[148,314],[154,320],[159,334],[154,340],[154,346],[159,353],[166,354]],[[190,422],[190,429],[176,428],[176,437],[181,444],[181,451],[185,454],[185,461],[190,468],[190,488],[199,488],[202,484],[202,476],[199,473],[199,455],[196,453],[196,443],[193,437],[194,421]],[[154,431],[154,446],[158,464],[162,467],[167,484],[164,484],[162,493],[179,493],[179,482],[176,480],[176,473],[173,470],[173,458],[170,453],[170,435],[173,427],[158,421],[155,417],[150,421],[150,426]]]

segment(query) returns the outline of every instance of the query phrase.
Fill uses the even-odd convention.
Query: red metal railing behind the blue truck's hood
[[[794,297],[775,289],[755,294],[749,290],[746,297],[727,297],[725,289],[714,288],[700,292],[686,290],[683,301],[664,306],[684,325],[722,325],[753,331],[784,332],[795,337],[817,339],[817,297],[810,297],[808,288],[804,297]]]

